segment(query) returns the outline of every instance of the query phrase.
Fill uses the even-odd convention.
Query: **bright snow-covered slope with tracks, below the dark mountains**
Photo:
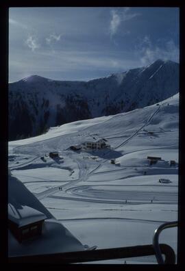
[[[78,120],[9,142],[9,166],[82,244],[99,248],[151,244],[156,227],[177,220],[178,122],[179,94],[175,94],[131,112]],[[69,148],[90,138],[105,138],[110,149]],[[51,151],[58,151],[59,157],[49,157]],[[148,156],[160,160],[150,164]],[[169,183],[160,183],[161,178]],[[177,229],[165,230],[160,242],[177,253]]]

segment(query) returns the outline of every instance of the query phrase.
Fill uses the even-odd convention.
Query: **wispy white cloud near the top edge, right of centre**
[[[140,15],[139,13],[130,13],[130,8],[123,8],[123,10],[111,10],[111,21],[110,21],[110,36],[116,34],[121,22],[129,21],[132,18]],[[125,34],[130,34],[130,31],[126,31]]]

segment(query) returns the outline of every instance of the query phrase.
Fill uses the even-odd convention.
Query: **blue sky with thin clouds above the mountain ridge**
[[[10,8],[9,81],[83,80],[179,62],[178,8]]]

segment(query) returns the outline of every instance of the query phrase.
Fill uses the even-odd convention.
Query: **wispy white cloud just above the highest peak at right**
[[[179,62],[179,48],[173,40],[164,42],[163,47],[155,46],[151,43],[149,36],[145,36],[136,46],[136,55],[139,55],[142,64],[150,64],[151,62],[162,60],[173,60]]]

